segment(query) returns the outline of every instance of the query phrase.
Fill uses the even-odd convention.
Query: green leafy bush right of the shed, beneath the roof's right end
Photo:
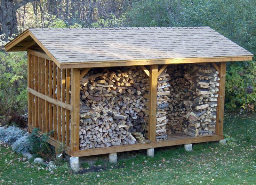
[[[246,81],[245,87],[252,85],[256,87],[256,63],[255,61],[244,62],[244,63],[233,63],[226,73],[226,108],[236,109],[245,106],[245,89],[244,89],[244,78],[248,77],[251,79]],[[247,94],[247,104],[250,107],[254,107],[256,100],[256,92],[253,90],[252,94]],[[254,110],[254,108],[250,108]]]

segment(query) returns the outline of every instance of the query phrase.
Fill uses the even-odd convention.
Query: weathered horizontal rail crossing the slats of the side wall
[[[46,96],[46,95],[44,95],[42,93],[37,92],[34,89],[29,88],[29,87],[28,87],[28,92],[31,93],[32,95],[35,95],[35,96],[37,96],[37,97],[39,97],[39,98],[41,98],[41,99],[43,99],[43,100],[45,100],[47,102],[50,102],[50,103],[52,103],[54,105],[60,106],[62,108],[68,109],[70,111],[73,111],[73,106],[68,104],[68,103],[64,103],[64,102],[61,102],[59,100],[53,99],[53,98],[51,98],[49,96]]]

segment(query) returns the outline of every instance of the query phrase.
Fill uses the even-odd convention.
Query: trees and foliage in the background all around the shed
[[[29,27],[210,26],[256,54],[256,0],[0,0],[0,47]],[[26,53],[0,53],[0,116],[26,112]],[[243,107],[255,62],[229,62],[226,108]],[[248,85],[248,84],[246,84]],[[249,95],[254,110],[256,93]],[[1,117],[0,117],[1,118]],[[11,118],[11,117],[10,117]]]

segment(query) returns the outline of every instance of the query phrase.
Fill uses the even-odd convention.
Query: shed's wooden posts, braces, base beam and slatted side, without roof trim
[[[219,65],[212,63],[216,69],[219,68],[219,70],[217,70],[219,71],[220,77],[216,135],[156,141],[157,77],[168,65],[163,65],[159,70],[158,65],[150,65],[149,70],[145,66],[140,65],[142,70],[150,77],[150,86],[148,88],[149,94],[147,97],[145,96],[145,98],[149,99],[149,102],[147,103],[149,108],[148,139],[151,140],[151,143],[79,150],[80,82],[77,79],[81,79],[90,70],[90,68],[85,68],[82,72],[77,68],[60,69],[54,61],[43,58],[43,55],[38,54],[38,56],[36,56],[33,54],[35,54],[35,52],[28,52],[29,131],[31,132],[34,127],[39,127],[41,134],[43,132],[54,130],[54,134],[51,135],[48,142],[55,147],[59,147],[61,142],[65,143],[65,152],[69,155],[80,157],[162,146],[218,141],[223,139],[226,62],[219,62]],[[40,82],[41,84],[36,85],[36,82]],[[69,102],[69,91],[71,91],[71,104]],[[34,103],[33,100],[35,100]],[[42,102],[39,106],[42,108],[42,118],[39,117],[40,114],[38,110],[35,110],[37,107],[36,104],[39,103],[39,100]],[[65,115],[65,117],[61,115]],[[33,121],[39,121],[40,119],[42,119],[42,122],[37,122],[33,125]],[[69,120],[71,123],[70,130]]]

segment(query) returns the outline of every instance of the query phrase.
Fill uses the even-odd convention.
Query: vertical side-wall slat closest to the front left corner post
[[[66,103],[70,103],[69,101],[69,89],[70,89],[70,69],[67,69],[66,72]],[[70,133],[69,133],[69,116],[70,116],[70,111],[66,109],[66,144],[69,146],[70,142]]]

